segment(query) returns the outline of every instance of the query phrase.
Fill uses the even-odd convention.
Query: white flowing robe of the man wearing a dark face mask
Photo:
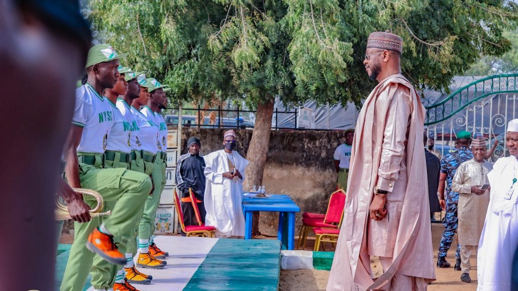
[[[248,160],[233,151],[231,161],[241,173],[242,180],[223,178],[230,171],[227,154],[224,150],[212,152],[205,159],[205,224],[216,228],[216,237],[244,236],[244,215],[241,208],[243,200],[244,171]]]

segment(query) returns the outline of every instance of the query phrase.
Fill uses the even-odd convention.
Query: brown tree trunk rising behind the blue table
[[[250,146],[247,152],[247,159],[250,161],[250,165],[247,168],[247,179],[244,182],[245,188],[263,184],[264,164],[270,144],[271,118],[273,115],[274,103],[272,101],[267,101],[265,104],[258,104],[252,140],[250,140]],[[254,212],[252,237],[256,237],[260,234],[259,212]]]

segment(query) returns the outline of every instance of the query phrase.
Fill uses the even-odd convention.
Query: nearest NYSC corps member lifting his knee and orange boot
[[[125,256],[113,243],[114,237],[121,238],[131,231],[136,220],[134,213],[151,191],[151,181],[146,174],[124,168],[104,168],[104,153],[114,121],[113,107],[100,93],[116,84],[122,56],[124,54],[118,55],[109,45],[92,47],[86,66],[87,84],[76,90],[73,126],[65,144],[68,183],[99,192],[107,205],[115,203],[111,215],[75,223],[74,243],[61,291],[82,290],[94,253],[112,264],[125,263]],[[90,207],[96,204],[90,196],[83,199]]]

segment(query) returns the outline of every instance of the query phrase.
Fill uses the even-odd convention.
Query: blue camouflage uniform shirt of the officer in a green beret
[[[446,188],[445,188],[445,199],[455,204],[458,203],[458,193],[452,191],[452,181],[455,172],[461,163],[466,162],[473,158],[473,153],[468,148],[458,148],[453,153],[449,153],[442,158],[441,161],[441,173],[445,173],[446,177]]]

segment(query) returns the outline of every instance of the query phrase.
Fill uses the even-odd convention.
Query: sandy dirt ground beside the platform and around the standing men
[[[437,261],[437,249],[441,239],[443,226],[442,224],[432,224],[431,234],[434,242],[434,259]],[[313,242],[308,240],[306,249],[310,249]],[[326,248],[328,250],[328,247]],[[429,291],[474,291],[477,289],[477,255],[471,255],[471,283],[461,281],[461,272],[455,271],[455,249],[448,252],[448,261],[452,264],[451,268],[436,269],[437,281],[428,285]],[[375,273],[379,275],[381,268],[377,260],[371,260],[371,265]],[[325,290],[329,271],[324,270],[281,270],[281,279],[279,282],[280,291],[321,291]]]

